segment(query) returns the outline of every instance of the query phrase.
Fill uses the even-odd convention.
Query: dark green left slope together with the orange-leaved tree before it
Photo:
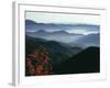
[[[72,55],[80,52],[80,47],[72,47],[55,41],[25,38],[25,75],[50,75],[53,73],[53,66],[59,65]]]

